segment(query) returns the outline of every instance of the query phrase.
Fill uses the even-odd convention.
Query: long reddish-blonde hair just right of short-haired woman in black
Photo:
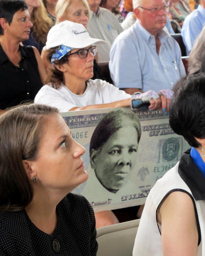
[[[30,18],[33,24],[33,33],[39,41],[42,41],[42,43],[45,44],[47,33],[53,23],[52,19],[47,14],[42,0],[40,0],[39,7],[33,8]]]

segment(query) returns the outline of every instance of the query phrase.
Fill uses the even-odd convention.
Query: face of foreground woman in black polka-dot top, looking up
[[[31,161],[36,184],[56,192],[69,192],[88,178],[81,158],[85,149],[73,140],[59,114],[50,114],[44,129],[37,158]]]

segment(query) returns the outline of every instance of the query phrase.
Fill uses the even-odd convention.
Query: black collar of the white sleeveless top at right
[[[205,178],[190,156],[190,149],[183,153],[178,174],[191,190],[195,200],[205,200]]]

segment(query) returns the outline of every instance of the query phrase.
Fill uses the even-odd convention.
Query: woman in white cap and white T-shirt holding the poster
[[[52,68],[47,84],[38,91],[34,102],[55,106],[60,112],[130,106],[131,95],[106,81],[90,79],[93,76],[96,43],[105,41],[91,38],[82,24],[65,20],[53,26],[48,32],[45,46]],[[171,94],[162,94],[162,107],[166,107]],[[150,103],[150,110],[161,106],[159,95],[154,91],[139,93],[133,99],[142,97],[147,104]],[[135,105],[132,104],[132,107]]]

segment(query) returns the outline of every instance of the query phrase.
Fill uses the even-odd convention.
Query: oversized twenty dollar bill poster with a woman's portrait
[[[160,110],[102,108],[62,116],[86,149],[89,177],[73,192],[85,196],[94,211],[143,204],[156,180],[189,148]]]

